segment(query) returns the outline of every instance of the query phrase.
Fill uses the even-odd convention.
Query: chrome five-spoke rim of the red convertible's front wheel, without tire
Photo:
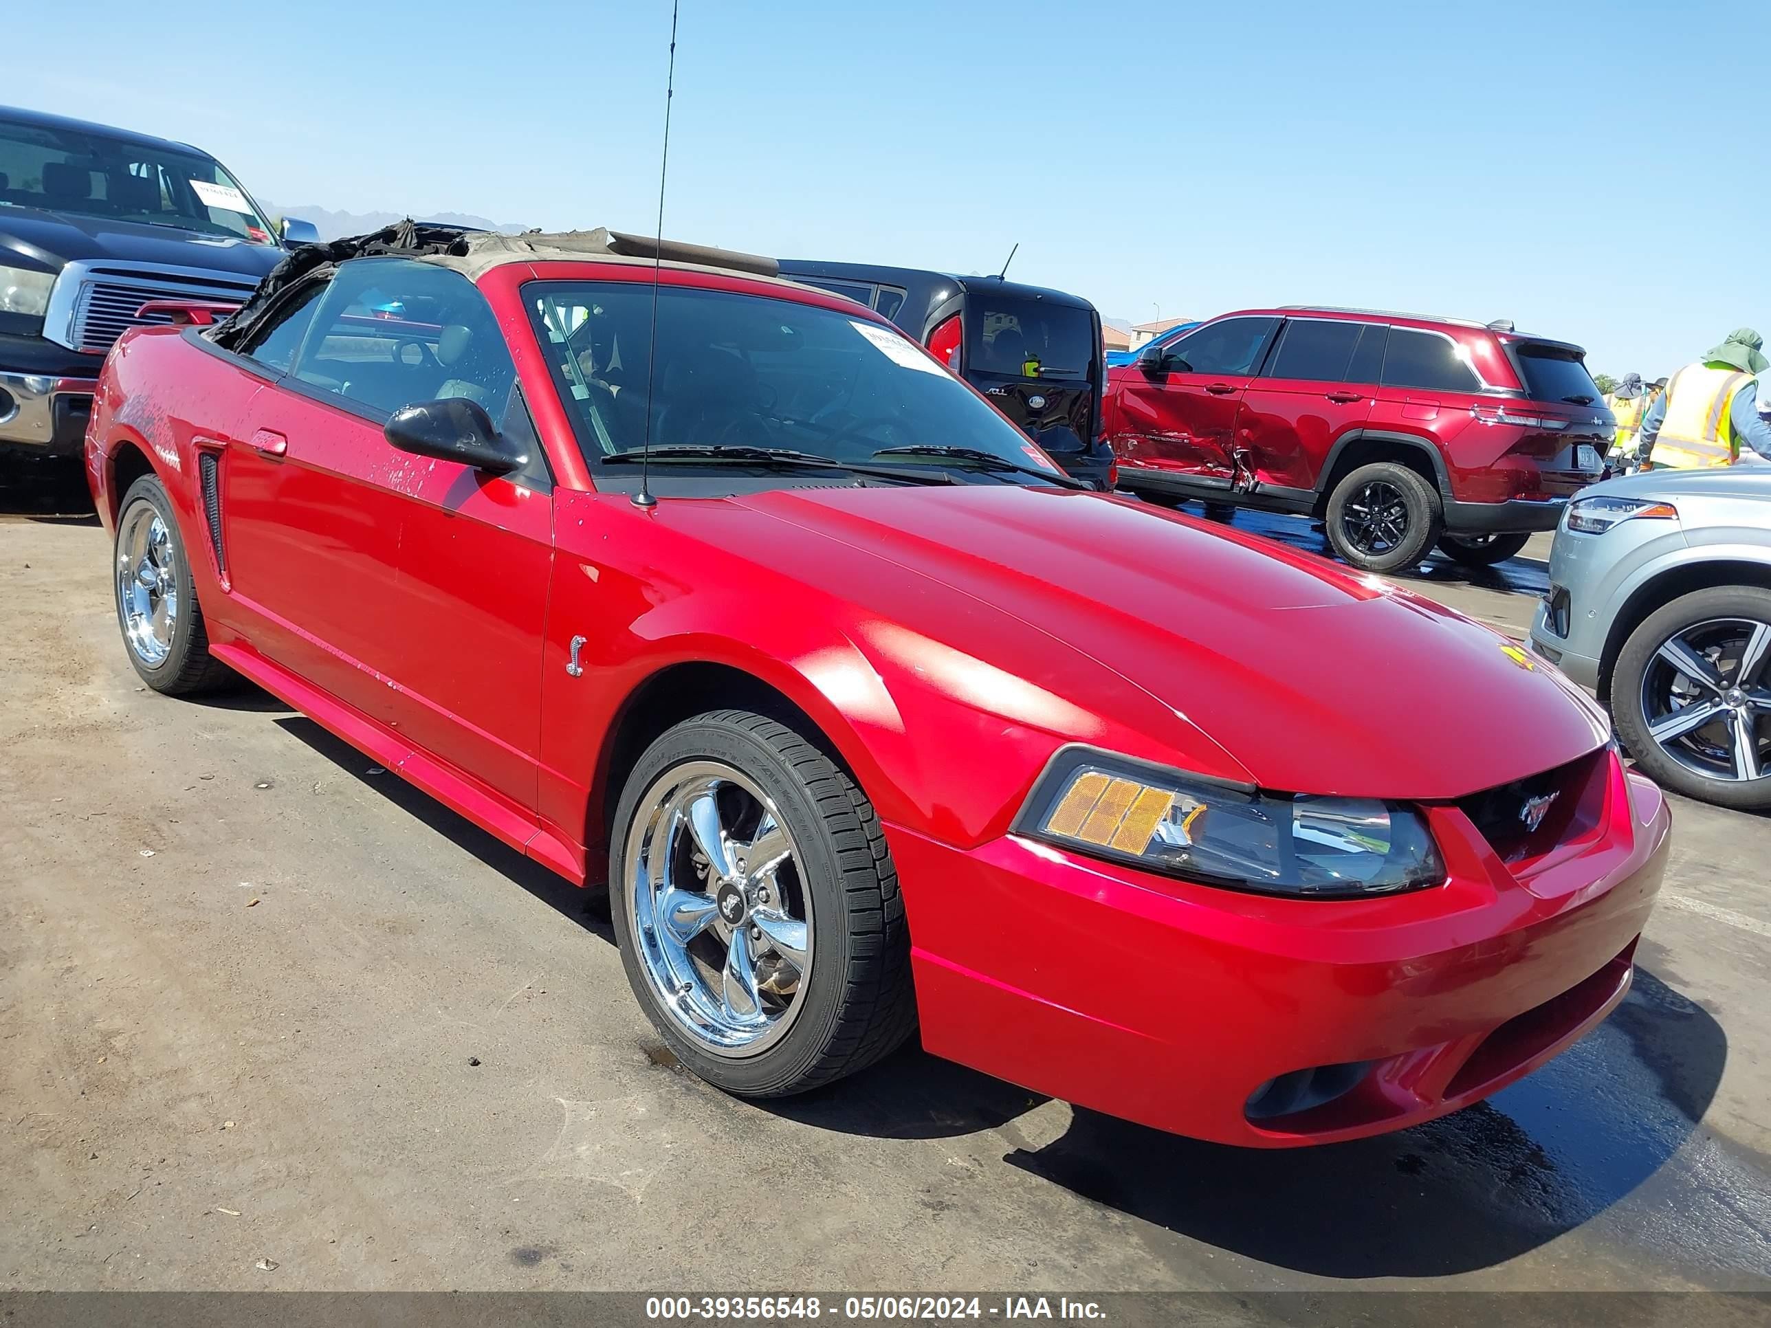
[[[685,761],[639,799],[629,940],[677,1029],[724,1057],[781,1041],[813,963],[799,850],[779,809],[724,761]]]

